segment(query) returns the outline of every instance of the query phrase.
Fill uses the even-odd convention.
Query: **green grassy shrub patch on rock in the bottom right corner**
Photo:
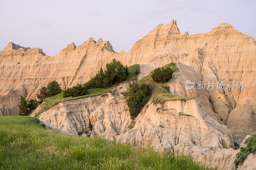
[[[236,154],[236,159],[234,164],[238,166],[240,163],[244,162],[249,153],[256,154],[256,133],[254,133],[251,137],[245,140],[246,147],[240,147],[240,152]]]

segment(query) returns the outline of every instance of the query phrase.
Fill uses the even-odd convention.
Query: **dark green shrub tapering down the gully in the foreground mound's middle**
[[[127,100],[130,115],[136,117],[142,107],[148,102],[150,88],[146,83],[139,85],[136,81],[129,83],[129,90],[131,92],[130,98]]]

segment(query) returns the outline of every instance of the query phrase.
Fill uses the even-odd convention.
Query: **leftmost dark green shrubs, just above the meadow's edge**
[[[37,106],[38,106],[38,102],[36,99],[30,99],[27,101],[24,97],[20,96],[19,115],[20,116],[27,115],[29,111],[36,108]]]

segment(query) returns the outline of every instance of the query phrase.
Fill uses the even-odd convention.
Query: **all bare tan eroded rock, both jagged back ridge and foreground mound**
[[[18,115],[20,95],[27,100],[35,98],[52,80],[58,81],[62,89],[87,82],[113,58],[127,66],[140,64],[138,79],[174,62],[178,70],[165,85],[174,95],[195,99],[167,101],[167,110],[157,110],[159,106],[149,100],[132,128],[122,94],[61,102],[38,118],[70,134],[92,131],[91,137],[103,136],[164,152],[184,150],[208,165],[236,169],[233,162],[239,150],[234,150],[234,142],[243,145],[244,138],[256,131],[256,42],[227,23],[209,33],[189,36],[188,32],[180,33],[176,20],[171,20],[156,26],[128,52],[119,53],[109,41],[92,37],[77,47],[68,44],[54,57],[41,48],[10,42],[0,52],[0,115]],[[243,88],[207,88],[206,83],[206,88],[187,90],[186,80],[237,81],[243,82]],[[127,84],[120,86],[123,88],[116,87],[118,93],[127,89]],[[253,169],[255,162],[255,155],[250,154],[238,169]]]

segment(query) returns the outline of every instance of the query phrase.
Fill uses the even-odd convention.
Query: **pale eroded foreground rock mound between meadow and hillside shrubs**
[[[177,83],[181,83],[182,76],[179,70],[175,71],[173,78],[165,85],[170,85],[172,92],[178,92]],[[169,100],[164,106],[150,100],[133,120],[125,97],[120,95],[128,88],[127,84],[124,82],[113,87],[111,90],[116,91],[116,95],[108,92],[107,95],[61,102],[41,113],[38,118],[69,134],[103,136],[116,142],[152,147],[163,152],[183,151],[207,165],[236,169],[234,160],[239,150],[232,149],[234,141],[230,130],[216,120],[212,110],[198,104],[200,100],[197,97],[188,101]],[[198,93],[203,95],[200,91]],[[40,109],[38,107],[33,115]],[[254,168],[250,163],[255,160],[250,158],[248,163],[240,165],[238,169]]]

